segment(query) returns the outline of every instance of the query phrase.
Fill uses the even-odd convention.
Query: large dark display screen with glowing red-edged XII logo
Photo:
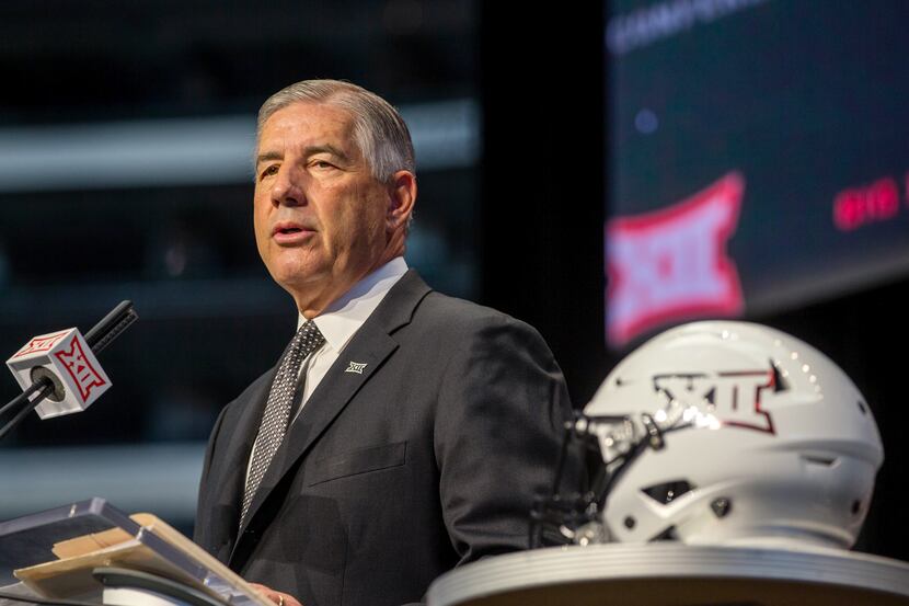
[[[909,273],[909,2],[607,4],[607,342]]]

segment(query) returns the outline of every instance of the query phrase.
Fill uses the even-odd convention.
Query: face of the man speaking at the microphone
[[[389,188],[372,176],[350,122],[345,110],[297,102],[262,128],[256,245],[298,306],[327,305],[383,262]]]

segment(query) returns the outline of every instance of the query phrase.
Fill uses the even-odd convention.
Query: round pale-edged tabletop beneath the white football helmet
[[[835,549],[552,547],[442,574],[428,606],[909,606],[909,563]]]

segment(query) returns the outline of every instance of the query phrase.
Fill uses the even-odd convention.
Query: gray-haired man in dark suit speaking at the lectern
[[[304,81],[260,111],[256,242],[306,336],[218,418],[195,540],[280,606],[418,602],[527,548],[552,481],[562,373],[532,328],[407,268],[415,198],[410,134],[377,95]]]

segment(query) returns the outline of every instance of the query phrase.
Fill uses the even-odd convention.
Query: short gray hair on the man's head
[[[411,133],[401,114],[376,93],[343,80],[303,80],[269,96],[258,110],[256,147],[272,114],[296,102],[325,103],[346,110],[354,121],[354,142],[372,176],[388,183],[400,170],[416,174]]]

